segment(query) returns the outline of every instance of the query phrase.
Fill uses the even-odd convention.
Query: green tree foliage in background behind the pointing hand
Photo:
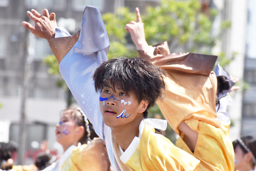
[[[199,0],[162,0],[159,6],[148,7],[141,17],[149,45],[167,41],[171,52],[210,53],[217,39],[211,35],[216,14],[215,9],[209,9],[207,14],[202,12]],[[116,14],[104,14],[102,18],[111,45],[108,58],[136,56],[129,33],[124,30],[125,24],[136,20],[135,12],[120,8]],[[225,22],[223,28],[229,24]],[[125,43],[130,46],[124,46]]]

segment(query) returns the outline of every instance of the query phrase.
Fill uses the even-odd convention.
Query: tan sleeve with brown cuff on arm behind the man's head
[[[212,72],[217,56],[170,53],[167,42],[152,47],[153,53],[138,53],[165,71],[165,98],[157,104],[173,130],[179,134],[178,125],[190,118],[221,128],[215,110],[217,78]]]

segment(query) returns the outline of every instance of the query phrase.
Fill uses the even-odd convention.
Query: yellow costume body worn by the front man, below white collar
[[[144,124],[144,129],[143,125]],[[192,155],[177,148],[166,137],[156,134],[155,129],[140,123],[140,132],[142,132],[140,141],[131,157],[124,163],[118,160],[118,165],[123,171],[194,171],[200,163]],[[138,137],[137,137],[138,138]],[[112,137],[114,155],[116,158],[122,158],[120,148]],[[132,146],[133,142],[130,146]],[[127,149],[126,151],[129,151]],[[126,152],[125,151],[125,152]]]

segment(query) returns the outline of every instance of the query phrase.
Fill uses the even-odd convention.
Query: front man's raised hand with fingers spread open
[[[39,14],[34,9],[27,11],[27,15],[33,22],[35,22],[35,27],[33,27],[28,22],[22,22],[22,25],[31,31],[34,35],[39,38],[50,39],[54,38],[55,28],[57,27],[55,14],[49,12],[47,9],[43,10],[43,15]]]

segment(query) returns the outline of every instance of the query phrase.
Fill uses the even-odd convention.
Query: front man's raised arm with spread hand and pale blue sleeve
[[[91,79],[94,70],[102,61],[108,60],[106,55],[109,39],[99,10],[87,6],[82,18],[81,30],[72,36],[65,29],[57,28],[54,13],[49,15],[47,9],[43,11],[43,16],[35,10],[32,10],[32,13],[27,12],[35,22],[35,27],[27,22],[23,22],[23,26],[34,35],[48,40],[59,63],[60,73],[76,102],[93,124],[98,136],[105,139],[104,130],[107,129],[104,129],[99,110],[99,94],[95,92]],[[66,37],[63,37],[64,34]]]

